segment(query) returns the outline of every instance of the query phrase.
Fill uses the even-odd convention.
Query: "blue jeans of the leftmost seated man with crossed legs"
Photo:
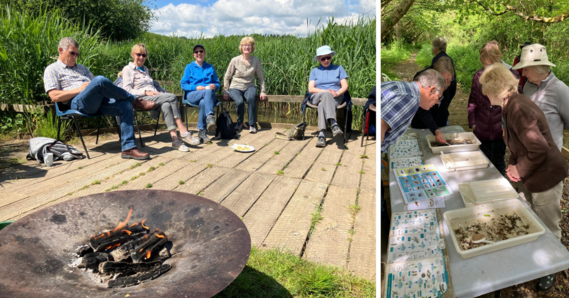
[[[115,102],[111,103],[111,98]],[[132,108],[135,100],[136,96],[115,86],[109,79],[98,76],[83,92],[73,98],[71,108],[87,115],[101,113],[120,117],[121,147],[122,151],[128,151],[136,148]]]

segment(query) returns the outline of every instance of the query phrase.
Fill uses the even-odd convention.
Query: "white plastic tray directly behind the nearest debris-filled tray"
[[[494,201],[517,199],[516,190],[506,179],[459,183],[460,196],[466,207],[487,204]]]

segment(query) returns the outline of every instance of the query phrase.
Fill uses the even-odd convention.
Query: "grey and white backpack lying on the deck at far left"
[[[48,153],[53,154],[53,160],[71,161],[85,158],[83,153],[72,146],[54,139],[39,137],[30,140],[30,152],[26,156],[26,159],[37,160],[44,163],[44,156]]]

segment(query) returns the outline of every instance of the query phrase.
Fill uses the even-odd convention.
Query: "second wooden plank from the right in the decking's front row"
[[[322,222],[316,225],[308,242],[305,258],[309,261],[346,268],[350,248],[352,215],[358,190],[330,186],[322,210]]]

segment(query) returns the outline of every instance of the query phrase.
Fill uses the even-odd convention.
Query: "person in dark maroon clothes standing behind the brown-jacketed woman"
[[[480,150],[500,174],[505,176],[506,144],[502,137],[502,106],[491,104],[490,99],[482,93],[482,85],[479,82],[486,68],[502,62],[502,51],[496,41],[488,42],[480,49],[480,62],[482,68],[474,74],[468,98],[468,125],[482,143]],[[519,77],[516,71],[511,70],[511,73],[514,77]]]

